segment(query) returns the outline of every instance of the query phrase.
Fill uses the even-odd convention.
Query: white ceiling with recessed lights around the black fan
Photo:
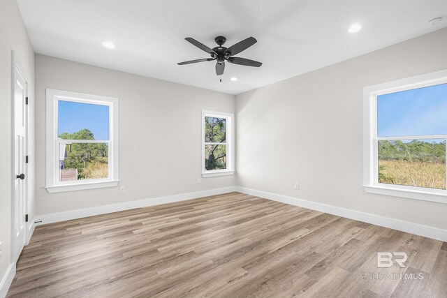
[[[239,94],[447,27],[446,0],[17,0],[34,50],[63,59]],[[437,25],[428,23],[444,17]],[[348,33],[353,23],[358,33]],[[226,47],[254,36],[240,53],[261,68],[214,62],[184,40]],[[101,45],[115,43],[114,50]],[[230,82],[237,77],[237,82]]]

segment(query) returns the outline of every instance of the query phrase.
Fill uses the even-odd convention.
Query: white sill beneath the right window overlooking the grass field
[[[447,203],[447,193],[437,193],[436,191],[418,191],[413,189],[397,189],[386,186],[364,185],[363,189],[367,193],[378,195],[390,195],[393,197],[409,198],[413,200],[423,200],[429,202]]]

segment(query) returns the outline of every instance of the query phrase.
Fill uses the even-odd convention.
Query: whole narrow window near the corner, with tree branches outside
[[[233,114],[202,111],[202,176],[234,173]]]

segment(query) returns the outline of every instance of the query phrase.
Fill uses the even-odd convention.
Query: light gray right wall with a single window
[[[446,230],[447,204],[362,189],[363,88],[446,68],[442,29],[237,95],[237,184]]]

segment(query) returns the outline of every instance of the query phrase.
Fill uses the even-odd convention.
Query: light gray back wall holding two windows
[[[119,188],[47,193],[45,88],[119,98]],[[201,178],[202,110],[235,112],[235,98],[116,70],[36,55],[36,213],[53,214],[235,185]]]

